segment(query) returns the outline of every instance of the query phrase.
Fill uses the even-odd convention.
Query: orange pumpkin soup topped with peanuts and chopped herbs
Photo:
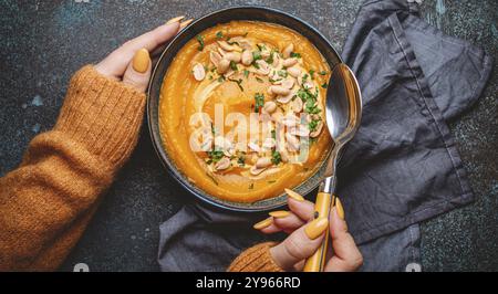
[[[201,32],[172,62],[159,128],[178,169],[220,199],[255,202],[317,171],[330,67],[288,28],[232,21]]]

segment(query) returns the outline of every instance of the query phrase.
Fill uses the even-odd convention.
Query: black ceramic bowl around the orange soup
[[[177,169],[175,162],[169,158],[166,149],[163,146],[163,140],[159,133],[158,124],[158,106],[159,106],[159,92],[163,84],[164,75],[166,74],[169,64],[175,59],[178,51],[193,38],[203,32],[204,30],[215,27],[219,23],[226,23],[232,20],[251,20],[251,21],[263,21],[272,22],[299,32],[301,35],[308,38],[314,46],[322,53],[329,63],[331,69],[335,64],[342,62],[340,55],[334,50],[332,44],[315,29],[304,21],[279,10],[263,8],[263,7],[235,7],[224,10],[212,12],[206,17],[203,17],[194,21],[184,31],[181,31],[165,49],[160,55],[148,86],[148,99],[147,99],[147,115],[148,115],[148,127],[154,143],[154,147],[157,155],[164,166],[168,169],[170,175],[181,183],[185,189],[190,191],[197,199],[209,203],[211,206],[228,209],[232,211],[266,211],[286,204],[287,196],[282,193],[278,197],[261,200],[253,203],[241,203],[231,202],[218,199],[214,196],[208,195],[203,191],[194,183],[189,182],[188,179]],[[320,182],[320,175],[323,172],[324,166],[322,165],[320,169],[310,177],[307,181],[302,182],[294,190],[301,195],[310,193]]]

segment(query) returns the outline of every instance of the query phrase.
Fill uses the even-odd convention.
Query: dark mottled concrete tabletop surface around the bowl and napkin
[[[74,71],[173,17],[196,18],[235,4],[263,4],[304,19],[341,49],[361,2],[0,0],[0,176],[20,162],[32,137],[53,126]],[[423,4],[428,22],[484,48],[495,61],[497,13],[496,0]],[[498,270],[497,91],[495,69],[479,102],[450,122],[477,202],[423,223],[426,271]],[[158,225],[186,198],[162,168],[144,128],[131,162],[63,270],[80,262],[92,271],[158,270]]]

